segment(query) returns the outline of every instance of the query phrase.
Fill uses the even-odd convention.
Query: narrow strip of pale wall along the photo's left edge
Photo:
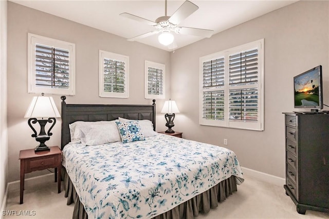
[[[3,205],[7,175],[7,1],[0,1],[0,205]]]

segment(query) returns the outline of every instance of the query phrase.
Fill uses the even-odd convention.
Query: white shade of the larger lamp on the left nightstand
[[[61,117],[51,96],[34,96],[24,118]]]

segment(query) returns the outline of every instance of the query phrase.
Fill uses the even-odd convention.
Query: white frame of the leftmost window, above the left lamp
[[[28,33],[27,43],[27,87],[28,93],[47,93],[47,94],[61,94],[61,95],[75,95],[76,94],[76,49],[74,43],[60,41],[45,36],[40,36]],[[54,47],[65,49],[69,51],[69,88],[49,88],[39,87],[35,85],[36,71],[35,71],[35,48],[36,44],[47,47]]]

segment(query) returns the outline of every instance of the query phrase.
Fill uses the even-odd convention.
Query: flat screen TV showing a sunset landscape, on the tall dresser
[[[295,76],[294,89],[295,108],[307,108],[311,112],[322,109],[322,66]]]

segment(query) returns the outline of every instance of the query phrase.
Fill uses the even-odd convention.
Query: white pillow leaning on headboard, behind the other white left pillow
[[[118,121],[118,120],[117,120]],[[92,125],[99,125],[99,124],[107,124],[107,123],[115,123],[113,121],[97,121],[97,122],[85,122],[85,121],[77,121],[68,125],[70,129],[70,136],[72,143],[80,143],[81,140],[85,141],[85,135],[81,131],[83,127],[90,127]]]

